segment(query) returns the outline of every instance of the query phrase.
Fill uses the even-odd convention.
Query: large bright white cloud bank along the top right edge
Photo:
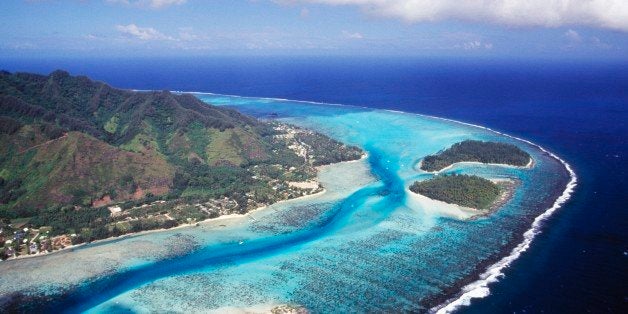
[[[286,0],[276,0],[285,3]],[[289,0],[289,3],[299,2]],[[407,22],[462,20],[508,26],[586,25],[628,32],[626,0],[301,0],[354,5]]]

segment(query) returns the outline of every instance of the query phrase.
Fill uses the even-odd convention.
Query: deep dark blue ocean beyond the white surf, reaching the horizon
[[[0,60],[130,89],[200,91],[395,109],[484,125],[569,162],[578,187],[528,250],[462,312],[628,308],[628,62],[399,58]],[[622,310],[623,309],[623,310]]]

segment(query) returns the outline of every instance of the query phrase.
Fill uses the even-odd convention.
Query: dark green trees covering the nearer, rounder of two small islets
[[[484,178],[470,175],[436,176],[416,181],[410,191],[429,198],[476,209],[487,209],[499,196],[499,187]]]

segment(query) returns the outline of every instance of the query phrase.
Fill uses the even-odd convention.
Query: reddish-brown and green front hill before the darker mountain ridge
[[[3,144],[12,145],[7,141]],[[164,194],[174,175],[174,168],[156,152],[124,151],[79,132],[69,132],[25,152],[15,149],[2,169],[11,177],[21,178],[26,190],[8,205],[35,208],[90,205],[104,195],[131,199],[137,197],[132,185]]]

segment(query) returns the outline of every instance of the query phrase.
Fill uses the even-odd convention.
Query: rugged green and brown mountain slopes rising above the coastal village
[[[190,95],[117,90],[63,71],[0,73],[0,116],[22,125],[0,134],[0,173],[20,178],[28,190],[0,205],[5,209],[163,194],[190,162],[237,166],[269,158],[250,117]],[[47,136],[40,125],[62,132]],[[67,138],[17,153],[63,133]]]

